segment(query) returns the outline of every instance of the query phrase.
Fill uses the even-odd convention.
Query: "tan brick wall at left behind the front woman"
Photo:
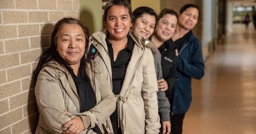
[[[53,25],[79,17],[79,0],[0,0],[0,133],[33,133],[31,74]]]

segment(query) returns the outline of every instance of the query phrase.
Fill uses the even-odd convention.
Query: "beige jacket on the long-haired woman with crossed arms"
[[[62,133],[61,125],[72,119],[65,110],[79,115],[85,126],[100,125],[112,132],[109,116],[116,107],[116,98],[105,77],[102,77],[95,62],[86,61],[86,74],[90,79],[96,96],[96,106],[79,113],[80,102],[72,76],[57,62],[49,62],[39,73],[35,86],[35,96],[39,109],[39,123],[36,133]],[[73,116],[74,117],[74,116]],[[94,133],[90,128],[82,133]]]

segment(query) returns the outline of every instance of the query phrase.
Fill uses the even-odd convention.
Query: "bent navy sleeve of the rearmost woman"
[[[179,54],[177,57],[177,67],[180,72],[195,79],[201,79],[204,75],[203,54],[201,52],[201,43],[198,39],[193,42],[190,49],[191,57]]]

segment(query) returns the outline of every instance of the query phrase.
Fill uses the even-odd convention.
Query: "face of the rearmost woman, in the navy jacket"
[[[186,9],[179,17],[179,25],[186,30],[191,30],[195,27],[198,21],[199,11],[194,7]]]

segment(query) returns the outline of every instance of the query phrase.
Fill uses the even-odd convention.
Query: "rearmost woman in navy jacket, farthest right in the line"
[[[204,75],[204,62],[201,52],[201,43],[192,29],[199,20],[200,11],[197,5],[187,4],[180,9],[176,33],[170,40],[178,48],[176,59],[178,81],[174,85],[172,100],[172,133],[182,133],[182,124],[185,113],[192,101],[191,79],[201,79]]]

